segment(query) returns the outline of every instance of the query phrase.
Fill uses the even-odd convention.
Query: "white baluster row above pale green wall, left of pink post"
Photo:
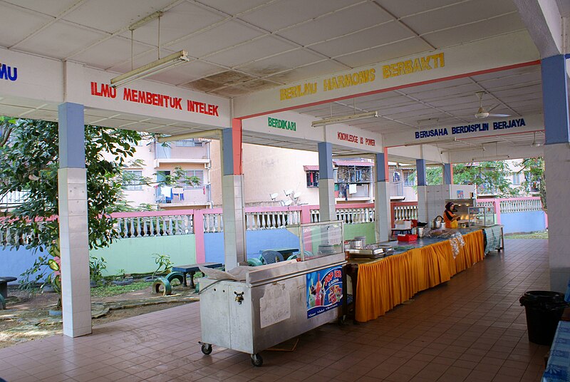
[[[120,237],[173,236],[193,234],[192,215],[162,215],[115,218]]]

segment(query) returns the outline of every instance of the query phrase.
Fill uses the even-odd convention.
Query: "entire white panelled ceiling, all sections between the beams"
[[[133,40],[129,30],[155,11],[164,12],[160,55],[185,49],[192,60],[150,79],[227,98],[525,29],[512,0],[0,0],[0,46],[125,73],[158,56],[158,19],[133,31]],[[542,110],[540,69],[528,66],[298,111],[326,117],[331,106],[332,115],[378,110],[380,118],[353,125],[393,133],[417,129],[418,120],[470,122],[476,91],[487,92],[483,106],[493,113]],[[0,112],[53,119],[55,105],[20,101],[0,99]],[[169,134],[200,130],[100,110],[86,110],[86,120]],[[306,147],[259,135],[244,141]]]

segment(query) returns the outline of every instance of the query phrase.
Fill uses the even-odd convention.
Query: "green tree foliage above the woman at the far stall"
[[[512,188],[509,165],[497,162],[471,162],[453,165],[453,183],[477,185],[477,193],[494,193],[499,197],[513,197],[519,190]]]

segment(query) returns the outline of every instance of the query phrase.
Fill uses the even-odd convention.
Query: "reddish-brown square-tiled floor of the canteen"
[[[539,381],[546,346],[527,340],[519,296],[549,289],[546,240],[507,252],[423,291],[366,324],[328,324],[296,351],[202,355],[199,304],[0,349],[0,377],[21,381]]]

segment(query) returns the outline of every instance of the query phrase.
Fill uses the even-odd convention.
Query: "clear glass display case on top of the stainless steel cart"
[[[343,222],[301,224],[295,228],[299,229],[301,261],[344,253]]]

